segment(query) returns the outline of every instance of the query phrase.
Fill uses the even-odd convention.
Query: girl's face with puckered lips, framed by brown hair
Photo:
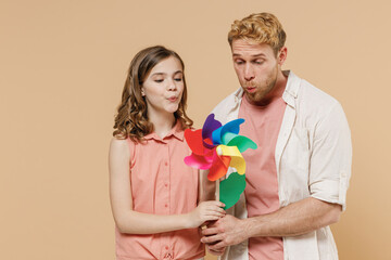
[[[184,92],[184,72],[180,62],[169,56],[157,63],[141,87],[148,113],[175,113]]]

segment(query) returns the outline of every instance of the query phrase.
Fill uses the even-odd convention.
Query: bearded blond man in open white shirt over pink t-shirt
[[[229,214],[205,229],[203,243],[223,259],[338,259],[329,225],[345,209],[350,129],[340,104],[292,72],[286,34],[269,13],[232,24],[228,34],[241,88],[213,113],[244,118],[247,187]]]

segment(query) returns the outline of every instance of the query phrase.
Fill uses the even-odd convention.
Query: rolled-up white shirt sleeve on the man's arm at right
[[[339,103],[315,127],[310,165],[312,197],[346,208],[351,177],[352,142],[346,117]]]

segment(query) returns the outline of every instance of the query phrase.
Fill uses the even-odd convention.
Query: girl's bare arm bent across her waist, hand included
[[[155,234],[198,227],[205,221],[224,216],[224,204],[220,202],[203,202],[186,214],[157,216],[134,211],[129,160],[127,141],[113,138],[109,154],[110,200],[115,223],[122,233]]]

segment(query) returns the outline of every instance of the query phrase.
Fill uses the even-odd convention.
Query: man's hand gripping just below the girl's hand
[[[237,245],[248,238],[244,220],[239,220],[230,214],[217,220],[202,231],[202,243],[207,244],[209,250],[220,252],[225,247]],[[223,255],[222,252],[222,255]]]

